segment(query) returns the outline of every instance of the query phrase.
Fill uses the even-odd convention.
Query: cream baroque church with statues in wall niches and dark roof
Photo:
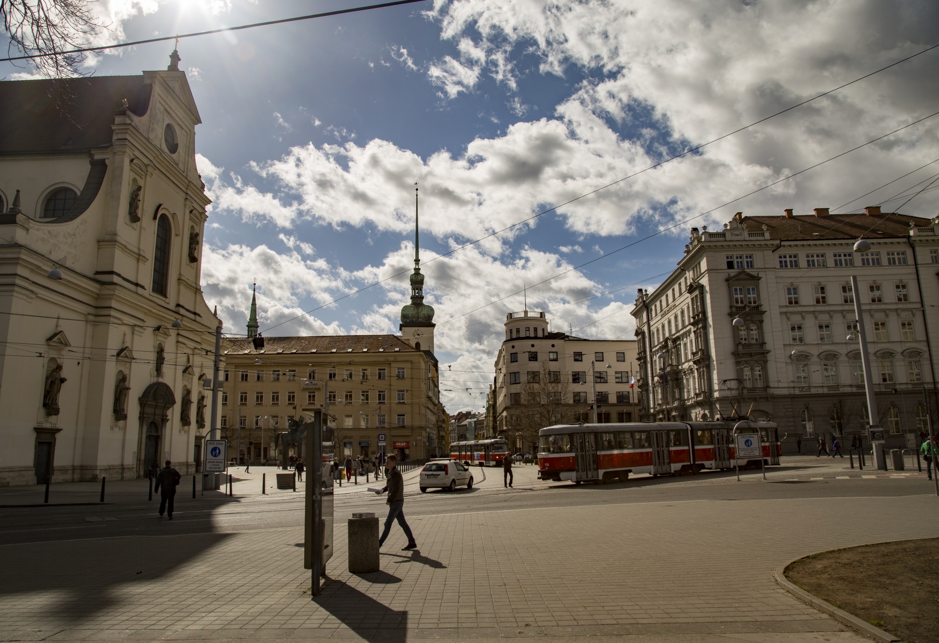
[[[197,469],[221,322],[178,62],[0,83],[0,485]]]

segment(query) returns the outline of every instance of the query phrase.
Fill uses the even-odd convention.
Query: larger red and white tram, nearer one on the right
[[[538,477],[572,482],[624,481],[630,473],[681,475],[705,468],[760,466],[737,461],[732,421],[627,422],[548,426],[539,431]],[[777,425],[748,422],[759,429],[765,465],[778,465],[782,445]]]

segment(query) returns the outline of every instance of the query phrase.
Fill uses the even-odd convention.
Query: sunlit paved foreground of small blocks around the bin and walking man
[[[516,480],[533,480],[531,467],[519,468]],[[483,477],[500,487],[500,471]],[[834,635],[844,628],[780,589],[773,569],[816,551],[935,536],[935,501],[671,500],[424,515],[409,519],[420,551],[399,551],[394,528],[381,572],[358,575],[346,572],[337,524],[332,580],[314,602],[299,528],[3,545],[0,640]]]

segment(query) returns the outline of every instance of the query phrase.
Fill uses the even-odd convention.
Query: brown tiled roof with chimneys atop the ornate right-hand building
[[[931,225],[929,219],[892,212],[874,215],[826,214],[823,217],[744,217],[741,221],[750,232],[759,232],[765,225],[770,237],[782,240],[853,239],[862,235],[867,238],[908,237],[910,222],[921,226]]]

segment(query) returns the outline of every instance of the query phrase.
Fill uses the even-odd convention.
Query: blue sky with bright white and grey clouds
[[[99,0],[108,28],[92,38],[356,6]],[[245,332],[255,280],[267,336],[398,332],[417,184],[443,401],[481,409],[505,314],[525,297],[552,329],[632,339],[637,288],[670,273],[692,225],[789,207],[889,211],[925,186],[939,173],[939,115],[740,198],[939,111],[939,49],[647,168],[937,34],[928,1],[430,0],[183,39],[213,200],[205,298],[229,333]],[[172,48],[116,50],[85,69],[164,69]],[[0,78],[35,73],[0,63]],[[936,216],[939,192],[901,212]]]

